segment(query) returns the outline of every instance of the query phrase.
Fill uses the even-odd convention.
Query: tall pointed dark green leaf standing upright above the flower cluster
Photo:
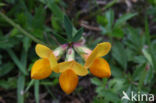
[[[72,23],[67,16],[64,16],[64,26],[65,26],[67,37],[69,40],[71,40],[72,39],[73,26],[72,26]]]

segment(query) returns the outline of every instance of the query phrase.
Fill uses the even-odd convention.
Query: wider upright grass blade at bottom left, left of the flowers
[[[17,82],[17,101],[18,103],[24,103],[24,85],[25,85],[25,76],[19,75]]]

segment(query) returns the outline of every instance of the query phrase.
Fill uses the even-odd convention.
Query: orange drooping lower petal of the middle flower
[[[59,83],[62,90],[66,94],[70,94],[75,90],[78,84],[78,76],[72,70],[66,70],[61,73]]]

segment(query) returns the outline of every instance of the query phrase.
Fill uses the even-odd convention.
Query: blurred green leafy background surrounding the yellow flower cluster
[[[111,42],[111,78],[80,77],[70,95],[59,74],[31,80],[36,43],[54,49],[82,35],[91,49]],[[0,103],[133,103],[122,91],[156,94],[155,78],[156,0],[0,0]]]

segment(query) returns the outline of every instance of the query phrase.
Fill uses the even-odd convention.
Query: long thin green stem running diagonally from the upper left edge
[[[14,21],[12,21],[10,18],[8,18],[5,14],[3,14],[2,12],[0,12],[0,16],[5,19],[9,24],[11,24],[13,27],[15,27],[16,29],[18,29],[20,32],[22,32],[24,35],[28,36],[30,39],[32,39],[34,42],[36,43],[41,43],[41,44],[45,44],[42,41],[40,41],[39,39],[35,38],[34,36],[32,36],[32,34],[28,33],[27,31],[25,31],[21,26],[19,26],[18,24],[16,24]]]

